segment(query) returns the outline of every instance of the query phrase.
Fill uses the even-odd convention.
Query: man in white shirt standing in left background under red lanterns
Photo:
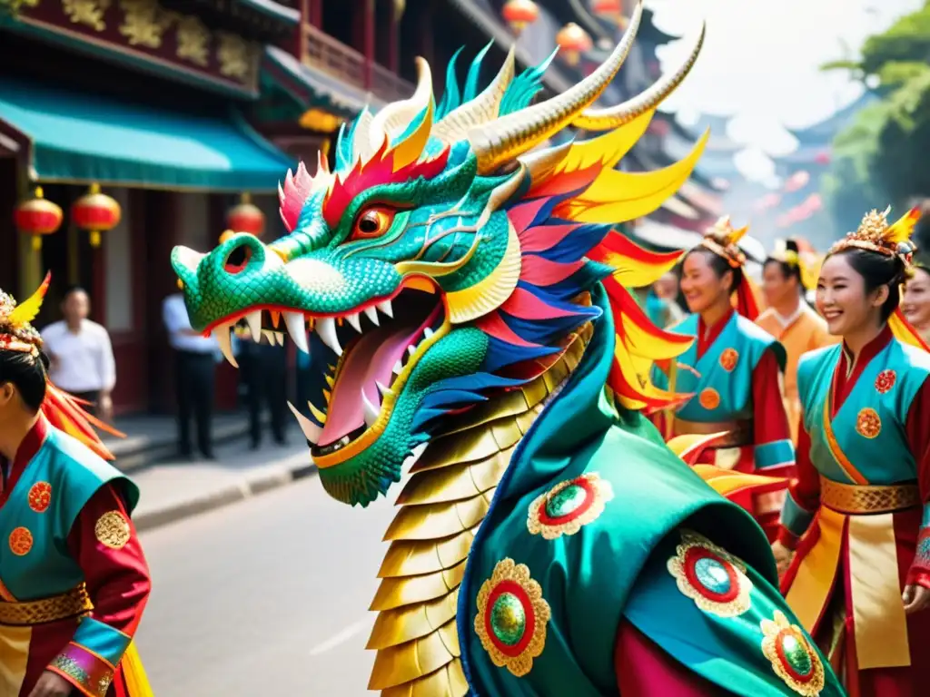
[[[113,418],[111,392],[116,384],[113,344],[107,330],[87,319],[90,299],[83,288],[69,288],[61,301],[64,320],[42,331],[51,360],[49,377],[58,387],[89,401],[100,418]]]

